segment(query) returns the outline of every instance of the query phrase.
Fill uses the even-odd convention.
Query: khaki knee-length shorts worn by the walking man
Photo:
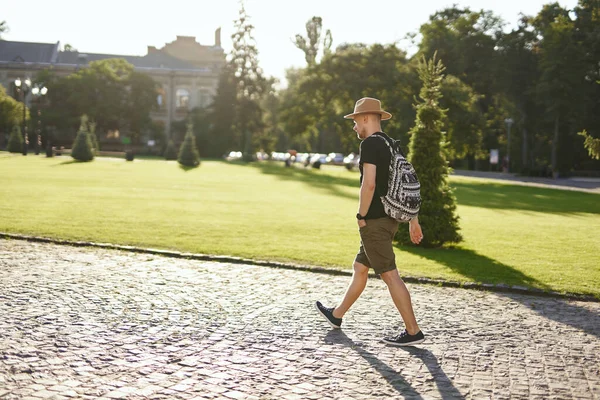
[[[354,261],[373,268],[377,275],[396,269],[396,256],[392,240],[398,230],[398,222],[388,218],[368,219],[359,228],[360,249]]]

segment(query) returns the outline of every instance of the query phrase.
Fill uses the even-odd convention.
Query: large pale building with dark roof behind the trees
[[[171,131],[171,123],[184,119],[190,109],[211,103],[225,64],[221,28],[215,31],[213,45],[201,45],[193,36],[177,36],[160,49],[148,46],[145,56],[61,51],[60,42],[0,40],[0,84],[12,93],[10,88],[17,78],[33,79],[45,69],[66,76],[92,61],[109,58],[125,59],[136,71],[151,76],[158,83],[156,100],[159,109],[151,117],[162,121],[166,134]]]

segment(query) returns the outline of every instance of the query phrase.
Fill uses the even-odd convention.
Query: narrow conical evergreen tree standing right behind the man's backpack
[[[439,104],[443,71],[444,66],[441,61],[436,61],[435,55],[429,61],[422,58],[418,69],[423,82],[419,94],[421,100],[415,105],[417,116],[410,132],[408,159],[421,183],[423,204],[419,222],[425,232],[421,244],[426,247],[462,241],[458,233],[456,199],[448,186],[450,171],[446,161],[446,138],[442,131],[445,111]],[[400,229],[396,238],[402,244],[410,243],[408,229]]]

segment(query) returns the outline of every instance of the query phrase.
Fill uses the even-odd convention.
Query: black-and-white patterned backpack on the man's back
[[[391,153],[388,191],[381,196],[383,209],[396,221],[409,222],[419,215],[421,208],[421,184],[417,173],[402,154],[398,141],[392,139],[393,144],[390,144],[385,137],[374,136],[381,138]]]

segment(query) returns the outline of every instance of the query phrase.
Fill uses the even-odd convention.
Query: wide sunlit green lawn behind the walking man
[[[600,298],[600,195],[453,177],[465,241],[397,248],[403,275]],[[350,268],[358,174],[0,153],[0,231]],[[425,232],[427,234],[427,232]]]

